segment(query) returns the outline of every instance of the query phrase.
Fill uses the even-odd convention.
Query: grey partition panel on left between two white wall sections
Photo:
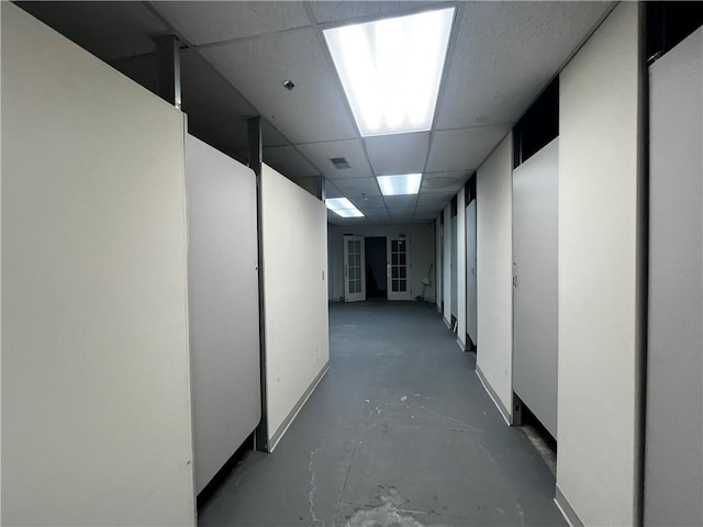
[[[261,417],[254,171],[186,137],[196,492]]]

